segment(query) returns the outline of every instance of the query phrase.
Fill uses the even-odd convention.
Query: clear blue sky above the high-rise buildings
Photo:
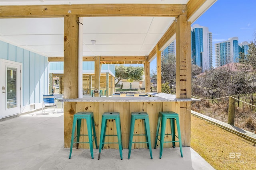
[[[256,0],[217,0],[194,23],[208,27],[212,32],[213,64],[215,65],[215,43],[238,37],[238,42],[252,41],[256,31]],[[156,60],[150,63],[156,70]]]

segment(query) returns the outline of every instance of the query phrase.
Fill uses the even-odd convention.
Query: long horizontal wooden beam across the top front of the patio
[[[0,18],[46,18],[91,16],[167,16],[186,15],[186,4],[64,4],[0,6]]]

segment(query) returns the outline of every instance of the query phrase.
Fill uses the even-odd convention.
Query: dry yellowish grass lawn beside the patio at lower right
[[[256,170],[256,146],[192,116],[191,147],[216,170]]]

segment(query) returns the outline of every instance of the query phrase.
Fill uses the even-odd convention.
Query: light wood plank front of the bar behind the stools
[[[190,129],[190,112],[191,110],[186,109],[185,107],[189,107],[191,102],[64,102],[65,105],[69,105],[68,108],[71,108],[68,113],[64,114],[64,135],[65,135],[65,147],[70,147],[70,139],[72,132],[72,122],[74,110],[76,112],[79,111],[92,111],[94,113],[94,123],[96,127],[96,136],[97,143],[100,143],[100,132],[101,132],[101,123],[102,123],[102,114],[104,112],[116,111],[120,113],[121,119],[121,130],[122,130],[122,144],[124,148],[128,148],[129,144],[129,134],[130,134],[130,117],[131,112],[133,111],[146,111],[149,116],[150,121],[150,135],[151,135],[151,143],[152,148],[154,147],[155,135],[156,135],[156,125],[158,121],[158,112],[159,111],[175,111],[180,116],[180,127],[182,134],[182,143],[188,143],[190,141],[190,133],[187,131]],[[180,109],[179,107],[182,107]],[[185,111],[186,110],[186,111]],[[179,113],[178,111],[181,111]],[[87,124],[83,121],[81,127],[81,133],[87,134]],[[185,129],[184,129],[185,127]],[[167,121],[166,133],[170,133],[170,121]],[[145,134],[144,121],[136,120],[134,126],[134,134]],[[177,133],[177,130],[176,130]],[[186,134],[185,134],[186,133]],[[116,123],[113,120],[107,121],[106,134],[116,135]],[[168,135],[165,137],[165,140],[171,140],[171,136]],[[82,138],[81,138],[82,139]],[[83,138],[88,141],[88,137]],[[106,137],[106,142],[117,142],[117,137]],[[134,136],[133,141],[146,141],[145,136]],[[179,144],[176,143],[176,147]],[[190,145],[183,145],[190,146]],[[74,145],[75,147],[75,145]],[[88,144],[81,145],[81,148],[89,148]],[[172,143],[165,143],[164,147],[172,147]],[[94,144],[94,148],[95,144]],[[104,149],[118,149],[118,144],[105,144]],[[146,144],[136,143],[132,145],[132,149],[146,148]],[[157,148],[159,148],[159,141],[157,142]]]

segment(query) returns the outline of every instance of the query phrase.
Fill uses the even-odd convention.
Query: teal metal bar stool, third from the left
[[[136,119],[142,119],[144,120],[144,126],[145,126],[145,133],[146,134],[133,134],[134,132],[134,124]],[[132,138],[133,136],[146,136],[146,142],[133,142]],[[148,119],[148,113],[146,112],[132,112],[131,116],[131,125],[130,125],[130,138],[129,138],[129,154],[128,159],[130,159],[131,150],[132,150],[132,143],[146,143],[150,152],[150,157],[152,157],[152,150],[151,150],[151,138],[150,138],[150,128],[149,128],[149,119]]]

